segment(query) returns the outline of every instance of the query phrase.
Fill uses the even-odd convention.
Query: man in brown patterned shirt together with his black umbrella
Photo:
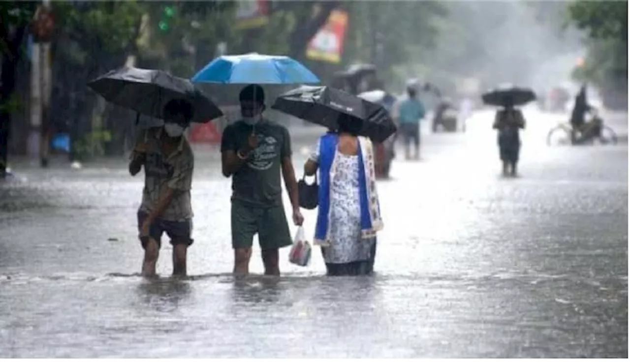
[[[205,123],[223,115],[199,89],[168,72],[120,67],[97,77],[88,86],[118,106],[164,120],[164,125],[140,130],[130,156],[129,173],[144,167],[142,203],[137,212],[144,248],[142,275],[155,276],[164,232],[173,244],[173,275],[186,275],[186,254],[193,243],[190,189],[194,158],[183,135],[190,122]]]

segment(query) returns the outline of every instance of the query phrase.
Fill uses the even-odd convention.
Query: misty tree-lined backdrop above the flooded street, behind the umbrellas
[[[0,4],[3,31],[0,100],[9,154],[28,153],[30,96],[38,3]],[[609,108],[627,108],[627,2],[575,1],[161,1],[51,3],[50,135],[72,135],[83,158],[122,155],[134,118],[86,87],[122,65],[192,77],[221,54],[284,54],[323,84],[354,64],[374,64],[368,88],[404,93],[412,78],[432,82],[455,102],[502,83],[533,88],[541,98],[588,82]],[[345,14],[339,54],[309,54],[332,14]],[[625,29],[625,31],[624,31]],[[238,87],[203,85],[224,108]],[[286,91],[268,88],[268,98]],[[428,102],[431,106],[434,103]],[[125,125],[125,127],[121,127]],[[10,132],[10,133],[9,133]],[[36,143],[37,144],[37,143]],[[0,151],[0,155],[6,152]]]

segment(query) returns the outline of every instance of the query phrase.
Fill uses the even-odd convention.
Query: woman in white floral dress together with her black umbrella
[[[314,242],[323,247],[328,274],[372,273],[383,227],[373,143],[396,132],[389,111],[327,86],[288,91],[272,109],[328,128],[304,165],[308,176],[319,171]]]

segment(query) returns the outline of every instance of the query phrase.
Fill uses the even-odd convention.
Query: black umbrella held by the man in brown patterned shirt
[[[115,105],[154,118],[163,119],[164,106],[178,99],[192,104],[192,122],[206,123],[223,115],[190,81],[164,71],[121,67],[89,82],[88,86]]]

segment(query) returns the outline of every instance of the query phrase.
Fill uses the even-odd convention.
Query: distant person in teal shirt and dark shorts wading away
[[[403,135],[404,156],[411,159],[410,144],[415,146],[414,159],[420,159],[420,120],[425,117],[425,106],[416,98],[416,89],[407,88],[408,98],[398,106],[398,127]]]

